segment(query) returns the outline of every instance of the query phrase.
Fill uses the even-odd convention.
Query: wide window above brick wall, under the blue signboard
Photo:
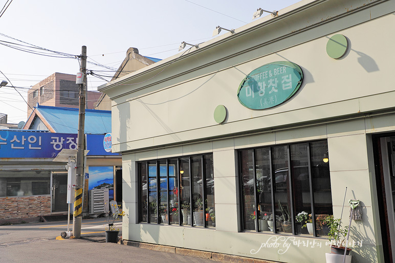
[[[0,172],[0,196],[50,194],[49,171]]]

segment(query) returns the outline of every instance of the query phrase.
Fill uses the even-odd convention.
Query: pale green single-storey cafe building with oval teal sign
[[[353,262],[393,262],[393,25],[394,0],[303,0],[100,86],[123,238],[325,262],[355,199]]]

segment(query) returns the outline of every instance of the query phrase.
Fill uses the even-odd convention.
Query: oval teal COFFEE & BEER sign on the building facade
[[[302,69],[289,61],[262,65],[240,83],[237,98],[251,109],[277,106],[294,95],[302,84]]]

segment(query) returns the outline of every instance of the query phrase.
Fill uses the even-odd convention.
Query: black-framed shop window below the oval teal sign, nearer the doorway
[[[322,222],[333,209],[326,141],[245,149],[238,157],[244,230],[327,234]]]

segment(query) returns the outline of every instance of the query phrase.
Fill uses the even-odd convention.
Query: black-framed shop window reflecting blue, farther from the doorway
[[[213,171],[212,154],[139,162],[139,221],[215,227]]]

